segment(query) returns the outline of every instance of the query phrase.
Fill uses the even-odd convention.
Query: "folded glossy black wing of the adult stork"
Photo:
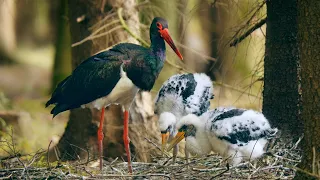
[[[56,116],[108,95],[121,78],[120,66],[123,61],[132,60],[144,50],[135,44],[119,44],[82,62],[69,77],[58,84],[46,103],[46,106],[56,105],[51,114]]]

